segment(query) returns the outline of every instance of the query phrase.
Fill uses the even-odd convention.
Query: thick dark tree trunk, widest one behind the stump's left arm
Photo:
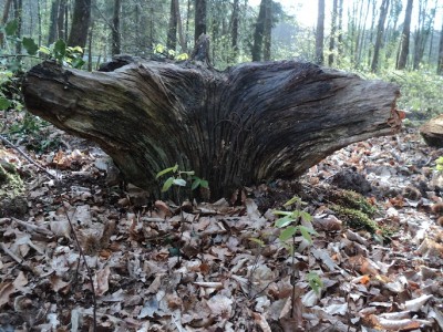
[[[68,45],[86,45],[87,29],[91,21],[91,0],[75,0],[74,11],[72,13],[71,33],[68,39]]]

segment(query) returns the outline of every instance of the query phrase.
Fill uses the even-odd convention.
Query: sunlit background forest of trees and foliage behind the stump
[[[2,0],[0,6],[7,79],[38,61],[22,56],[29,40],[44,53],[54,52],[44,46],[56,40],[81,46],[84,69],[94,70],[120,53],[185,59],[205,32],[220,70],[300,59],[396,82],[400,106],[420,116],[441,107],[441,0]]]

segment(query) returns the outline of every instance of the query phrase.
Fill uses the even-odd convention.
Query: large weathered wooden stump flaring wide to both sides
[[[156,191],[156,173],[178,163],[215,199],[401,126],[394,84],[296,61],[220,72],[196,53],[204,61],[117,56],[92,73],[44,62],[25,75],[25,106],[96,142],[127,181]]]

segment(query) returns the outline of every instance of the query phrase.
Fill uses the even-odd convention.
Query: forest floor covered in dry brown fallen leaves
[[[443,331],[443,149],[415,128],[246,188],[240,206],[183,208],[113,186],[104,153],[50,132],[60,149],[27,154],[52,176],[0,145],[25,187],[0,215],[0,331],[93,331],[94,305],[96,331]],[[352,205],[338,187],[364,194],[369,228],[337,209]],[[292,258],[272,210],[293,195],[317,235]]]

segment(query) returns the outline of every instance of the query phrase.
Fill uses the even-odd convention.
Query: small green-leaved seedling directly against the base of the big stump
[[[178,165],[175,164],[173,167],[165,168],[157,173],[155,178],[159,178],[166,174],[171,174],[171,176],[164,181],[162,191],[165,193],[169,190],[172,186],[176,187],[186,187],[186,185],[190,181],[190,190],[194,190],[198,187],[209,189],[209,184],[207,180],[195,176],[194,170],[181,170],[178,169]],[[186,179],[184,178],[186,177]]]

